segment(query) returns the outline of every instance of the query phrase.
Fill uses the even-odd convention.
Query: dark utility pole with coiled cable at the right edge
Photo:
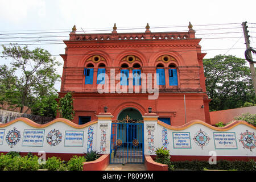
[[[248,26],[246,26],[246,23],[247,22],[243,22],[242,23],[242,26],[243,26],[243,36],[245,36],[245,44],[246,44],[246,49],[249,49],[250,48],[250,40],[249,40],[249,37],[250,35],[248,35]],[[248,52],[249,56],[251,56],[251,52],[249,51]],[[254,63],[250,63],[250,70],[251,70],[251,78],[253,79],[253,88],[254,88],[254,93],[255,93],[255,96],[256,96],[256,75],[255,75],[255,68],[254,68]]]

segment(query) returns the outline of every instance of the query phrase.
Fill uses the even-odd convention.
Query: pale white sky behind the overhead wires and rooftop
[[[125,30],[122,32],[144,32],[149,23],[151,32],[158,31],[188,31],[191,22],[196,31],[196,38],[203,38],[200,45],[202,52],[207,52],[205,58],[218,54],[234,55],[245,58],[245,39],[243,38],[241,23],[247,21],[251,47],[256,47],[256,18],[255,0],[247,1],[43,1],[43,0],[0,0],[0,38],[28,37],[28,36],[66,36],[53,38],[30,39],[0,39],[0,44],[9,44],[8,41],[32,40],[32,42],[17,42],[18,44],[34,44],[30,49],[41,47],[47,49],[61,63],[59,54],[64,53],[65,44],[38,44],[61,43],[42,42],[42,40],[68,39],[69,31],[76,24],[77,31],[81,28],[89,30],[104,30],[111,32],[114,23],[118,28],[142,28],[141,30]],[[199,26],[205,24],[221,24],[217,26]],[[237,23],[237,24],[228,24]],[[154,28],[154,27],[170,28]],[[185,26],[171,28],[174,26]],[[218,29],[216,28],[227,28]],[[202,30],[203,29],[203,30]],[[205,30],[214,29],[214,30]],[[35,34],[35,32],[68,31],[54,34]],[[121,32],[121,31],[118,31]],[[234,34],[216,34],[237,32]],[[11,33],[11,34],[10,34]],[[14,35],[14,33],[30,33]],[[34,34],[33,34],[34,33]],[[3,35],[5,34],[5,35]],[[205,35],[203,35],[205,34]],[[205,39],[204,39],[205,38]],[[222,38],[222,39],[211,39]],[[225,38],[225,39],[223,39]],[[41,40],[41,42],[37,42]],[[3,42],[5,41],[5,42]],[[14,43],[14,42],[13,42]],[[38,45],[37,45],[38,44]],[[243,49],[244,48],[244,49]],[[224,50],[210,50],[224,49]],[[204,51],[205,50],[205,51]],[[2,55],[2,48],[0,48]],[[0,64],[6,63],[0,59]],[[62,66],[58,68],[62,74]],[[60,83],[56,84],[60,90]]]

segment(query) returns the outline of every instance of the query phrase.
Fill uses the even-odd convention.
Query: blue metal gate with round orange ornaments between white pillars
[[[110,163],[144,163],[143,123],[112,123]]]

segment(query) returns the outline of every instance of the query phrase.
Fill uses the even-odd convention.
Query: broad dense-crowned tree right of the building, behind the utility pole
[[[255,104],[250,68],[244,59],[217,55],[204,59],[203,64],[207,94],[212,99],[210,110],[242,107],[245,102]]]

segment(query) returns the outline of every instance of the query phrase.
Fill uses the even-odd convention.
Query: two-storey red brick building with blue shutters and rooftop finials
[[[201,52],[201,39],[195,38],[190,23],[187,32],[151,32],[147,24],[145,32],[118,33],[114,25],[108,34],[77,34],[74,26],[69,35],[61,55],[59,97],[73,92],[73,122],[97,119],[107,106],[118,120],[126,115],[140,120],[151,107],[160,121],[172,126],[194,119],[210,123],[203,70],[206,53]],[[159,88],[156,99],[148,97],[156,95],[148,92],[150,73],[152,88]],[[127,93],[117,92],[119,85]]]

